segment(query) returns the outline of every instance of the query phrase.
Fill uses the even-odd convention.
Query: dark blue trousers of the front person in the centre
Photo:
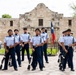
[[[41,47],[34,47],[35,51],[33,52],[33,61],[32,61],[32,67],[33,69],[36,69],[37,63],[39,63],[39,68],[43,68],[42,64],[42,55],[41,55]]]

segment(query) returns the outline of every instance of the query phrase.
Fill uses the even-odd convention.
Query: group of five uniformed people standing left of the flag
[[[32,49],[32,71],[36,70],[37,63],[39,63],[39,68],[43,71],[44,60],[43,54],[45,57],[46,63],[48,62],[47,56],[47,43],[48,43],[48,34],[45,32],[45,28],[41,30],[39,28],[35,29],[35,35],[33,37],[28,33],[27,28],[23,28],[23,34],[19,34],[19,30],[15,29],[14,33],[11,29],[8,30],[8,36],[4,38],[4,48],[5,48],[5,62],[4,68],[2,70],[8,70],[8,61],[9,56],[12,59],[12,66],[15,71],[18,71],[18,66],[22,67],[22,61],[24,61],[25,50],[27,53],[28,63],[30,62],[30,51],[29,45]],[[20,55],[20,51],[22,52]],[[17,59],[16,57],[17,56]],[[17,60],[17,61],[16,61]],[[17,64],[18,62],[18,64]]]

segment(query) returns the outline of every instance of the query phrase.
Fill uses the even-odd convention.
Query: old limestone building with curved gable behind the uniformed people
[[[54,25],[56,41],[62,34],[63,30],[67,28],[72,29],[74,36],[76,37],[76,18],[63,17],[63,14],[51,11],[45,4],[40,3],[32,11],[20,14],[19,18],[1,18],[0,19],[0,40],[3,41],[7,35],[7,30],[19,29],[20,34],[23,33],[23,27],[28,28],[31,36],[34,35],[35,28],[45,27],[48,30],[48,34],[51,37],[51,22]]]

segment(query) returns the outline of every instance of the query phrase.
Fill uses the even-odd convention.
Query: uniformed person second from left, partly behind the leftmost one
[[[19,35],[19,30],[15,29],[14,30],[14,37],[15,37],[15,52],[17,54],[17,61],[19,67],[21,67],[21,57],[20,57],[20,44],[22,43],[22,38]]]

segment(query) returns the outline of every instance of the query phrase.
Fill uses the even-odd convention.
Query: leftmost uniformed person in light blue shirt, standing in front
[[[13,31],[11,29],[9,29],[8,36],[6,36],[4,39],[4,48],[5,48],[5,52],[6,52],[6,58],[5,58],[3,70],[8,69],[9,55],[11,55],[14,70],[17,71],[18,69],[17,69],[17,63],[16,63],[16,59],[15,59],[15,48],[14,48],[15,47],[15,38],[12,34],[13,34]]]

